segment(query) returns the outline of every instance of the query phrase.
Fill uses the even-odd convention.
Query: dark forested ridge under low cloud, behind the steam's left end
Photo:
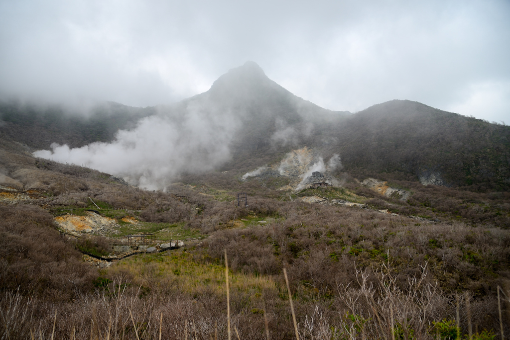
[[[85,117],[56,105],[0,102],[0,134],[34,149],[49,149],[52,143],[81,147],[110,141],[119,129],[132,128],[141,118],[155,113],[154,107],[107,102],[93,107]]]

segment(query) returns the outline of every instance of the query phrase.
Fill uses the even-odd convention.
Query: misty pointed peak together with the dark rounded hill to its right
[[[237,111],[233,159],[222,169],[246,169],[305,145],[324,157],[340,154],[354,176],[420,180],[424,184],[510,189],[510,127],[430,106],[393,100],[354,115],[294,96],[246,63],[190,98]]]

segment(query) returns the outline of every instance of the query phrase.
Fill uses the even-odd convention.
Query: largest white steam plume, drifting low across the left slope
[[[178,119],[144,118],[133,130],[120,130],[111,143],[70,149],[52,145],[34,156],[65,160],[129,179],[147,189],[165,189],[182,172],[207,171],[230,158],[228,145],[239,125],[229,111],[191,102]]]

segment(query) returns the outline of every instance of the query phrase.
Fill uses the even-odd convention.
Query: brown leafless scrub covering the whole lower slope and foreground
[[[507,192],[393,181],[412,192],[401,202],[346,176],[346,187],[366,199],[368,209],[360,209],[289,201],[292,195],[232,174],[188,175],[183,180],[190,184],[146,191],[91,169],[5,155],[8,175],[40,183],[41,197],[0,207],[3,338],[54,332],[54,338],[155,339],[161,313],[164,339],[184,338],[186,331],[188,338],[226,338],[225,249],[232,322],[241,338],[266,338],[264,310],[271,338],[295,338],[283,268],[303,339],[419,339],[437,332],[448,338],[456,333],[457,299],[463,336],[470,324],[473,333],[499,334],[498,286],[510,334]],[[241,191],[248,192],[247,208],[233,202]],[[53,216],[35,206],[92,209],[89,197],[105,210],[179,222],[207,239],[181,253],[135,256],[97,272],[60,238]],[[104,240],[91,242],[108,251]]]

